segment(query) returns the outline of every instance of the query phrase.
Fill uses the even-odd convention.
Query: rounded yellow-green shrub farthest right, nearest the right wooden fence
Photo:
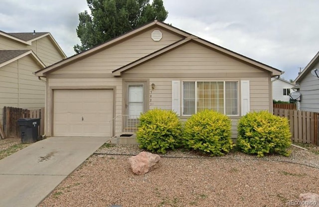
[[[280,154],[289,156],[291,145],[288,119],[268,111],[251,112],[243,116],[237,126],[239,149],[248,154]]]

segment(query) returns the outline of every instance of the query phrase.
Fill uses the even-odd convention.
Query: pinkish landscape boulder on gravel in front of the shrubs
[[[160,156],[149,152],[141,152],[129,158],[131,169],[137,175],[144,175],[159,167]]]

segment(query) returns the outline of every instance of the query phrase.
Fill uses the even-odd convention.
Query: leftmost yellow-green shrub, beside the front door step
[[[140,116],[137,141],[140,148],[166,153],[181,146],[181,123],[172,111],[154,109]]]

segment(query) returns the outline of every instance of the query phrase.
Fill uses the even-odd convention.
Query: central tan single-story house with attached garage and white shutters
[[[155,20],[35,73],[46,82],[47,136],[118,136],[154,108],[181,120],[272,111],[282,71]]]

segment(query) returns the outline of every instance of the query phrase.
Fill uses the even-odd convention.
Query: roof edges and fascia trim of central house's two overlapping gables
[[[44,68],[42,70],[39,70],[39,71],[35,72],[35,75],[37,75],[37,76],[46,76],[46,73],[49,73],[50,71],[57,70],[60,67],[63,67],[64,65],[66,65],[66,64],[71,64],[72,62],[74,62],[76,60],[88,57],[88,56],[90,56],[92,54],[95,54],[96,52],[98,52],[100,50],[103,50],[103,49],[105,49],[107,47],[110,47],[111,45],[114,45],[114,44],[116,44],[116,43],[118,43],[120,41],[123,41],[124,39],[128,39],[128,38],[130,38],[130,37],[132,37],[132,36],[134,36],[134,35],[136,35],[136,34],[138,34],[140,32],[143,32],[143,31],[145,31],[147,29],[150,29],[150,28],[156,27],[156,26],[157,27],[161,27],[163,29],[167,29],[167,30],[169,30],[169,31],[171,31],[171,32],[173,32],[173,33],[175,33],[177,35],[180,35],[180,36],[184,37],[184,38],[182,40],[174,42],[174,43],[172,43],[172,44],[170,44],[170,45],[168,45],[168,46],[166,46],[164,48],[161,48],[160,50],[157,50],[157,51],[155,51],[155,52],[153,52],[153,53],[151,53],[151,54],[149,54],[149,55],[147,55],[145,57],[142,57],[142,58],[140,58],[140,59],[138,59],[138,60],[136,60],[134,62],[131,62],[131,63],[129,63],[129,64],[127,64],[127,65],[125,65],[125,66],[123,66],[121,68],[118,68],[118,69],[114,70],[112,72],[114,76],[120,76],[122,72],[125,72],[126,70],[129,70],[129,69],[131,69],[131,68],[133,68],[133,67],[135,67],[137,65],[143,64],[144,62],[149,61],[150,59],[153,59],[156,56],[158,56],[160,54],[163,54],[165,52],[168,52],[168,51],[170,51],[170,50],[172,50],[172,49],[174,49],[174,48],[176,48],[176,47],[178,47],[178,46],[180,46],[182,44],[185,44],[186,42],[189,42],[189,41],[196,41],[197,43],[200,43],[200,44],[208,46],[208,47],[210,47],[212,49],[218,50],[219,52],[222,52],[222,53],[224,53],[224,54],[226,54],[228,56],[235,57],[235,58],[240,59],[241,61],[244,61],[244,62],[246,62],[248,64],[252,64],[252,65],[255,65],[255,66],[259,67],[259,68],[268,70],[268,71],[272,72],[273,76],[283,74],[283,71],[281,71],[281,70],[278,70],[276,68],[270,67],[270,66],[265,65],[265,64],[263,64],[261,62],[258,62],[256,60],[250,59],[250,58],[245,57],[243,55],[240,55],[240,54],[238,54],[236,52],[233,52],[231,50],[228,50],[226,48],[223,48],[221,46],[213,44],[213,43],[211,43],[209,41],[201,39],[201,38],[199,38],[197,36],[194,36],[194,35],[192,35],[192,34],[190,34],[188,32],[180,30],[180,29],[178,29],[176,27],[173,27],[173,26],[171,26],[169,24],[166,24],[166,23],[160,22],[158,20],[155,20],[155,21],[152,21],[152,22],[150,22],[150,23],[148,23],[148,24],[146,24],[144,26],[141,26],[141,27],[139,27],[137,29],[134,29],[134,30],[132,30],[130,32],[124,33],[123,35],[121,35],[119,37],[116,37],[114,39],[111,39],[111,40],[109,40],[109,41],[107,41],[107,42],[105,42],[103,44],[100,44],[100,45],[98,45],[96,47],[93,47],[93,48],[91,48],[91,49],[89,49],[87,51],[84,51],[84,52],[81,52],[79,54],[73,55],[73,56],[71,56],[71,57],[69,57],[67,59],[61,60],[60,62],[57,62],[57,63],[55,63],[53,65],[50,65],[50,66],[48,66],[48,67],[46,67],[46,68]]]

